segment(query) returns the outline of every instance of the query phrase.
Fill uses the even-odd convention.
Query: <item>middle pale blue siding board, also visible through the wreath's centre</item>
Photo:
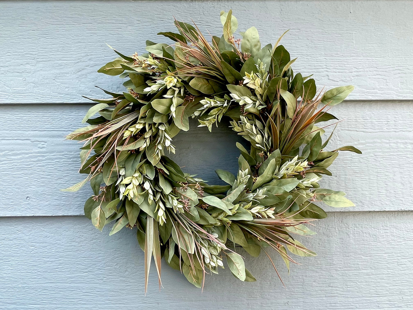
[[[59,189],[82,180],[78,174],[81,146],[64,135],[81,126],[88,105],[2,105],[0,125],[0,216],[81,215],[91,194],[88,185],[78,193]],[[333,177],[322,185],[343,190],[356,204],[340,211],[413,210],[406,165],[413,161],[413,105],[409,102],[345,102],[333,108],[344,119],[327,150],[354,145],[363,155],[341,152]],[[237,171],[242,141],[222,124],[207,129],[191,122],[174,143],[173,159],[187,172],[219,183],[215,169]],[[337,210],[326,207],[326,210]]]

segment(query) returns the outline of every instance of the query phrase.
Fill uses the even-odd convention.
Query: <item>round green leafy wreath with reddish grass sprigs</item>
[[[261,48],[255,27],[234,37],[231,10],[221,12],[221,22],[223,36],[209,41],[196,25],[175,20],[179,33],[158,33],[173,44],[146,41],[142,55],[114,50],[119,57],[98,72],[126,79],[126,91],[91,99],[97,104],[83,119],[88,126],[67,136],[84,142],[80,173],[87,177],[65,191],[90,181],[84,210],[97,229],[114,222],[112,235],[137,227],[145,291],[152,257],[160,285],[162,257],[197,287],[225,261],[241,281],[256,281],[241,247],[270,260],[277,252],[289,268],[291,254],[316,255],[296,236],[315,234],[305,224],[327,217],[317,203],[354,206],[344,192],[319,185],[332,175],[338,151],[361,153],[352,146],[327,151],[332,134],[321,138],[325,122],[337,120],[327,111],[354,87],[317,92],[311,76],[293,73],[296,59],[279,45],[285,33]],[[209,131],[229,118],[248,141],[249,149],[237,143],[236,176],[216,170],[227,185],[210,185],[167,157],[176,152],[173,137],[189,130],[189,117]]]

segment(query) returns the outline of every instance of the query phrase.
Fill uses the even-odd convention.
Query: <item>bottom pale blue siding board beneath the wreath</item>
[[[281,259],[246,256],[255,283],[228,268],[202,292],[178,271],[156,269],[144,296],[144,256],[135,231],[109,237],[85,217],[0,217],[0,308],[408,310],[413,296],[413,212],[335,212],[317,222],[290,274]],[[304,242],[304,241],[303,241]],[[235,297],[237,296],[237,297]]]

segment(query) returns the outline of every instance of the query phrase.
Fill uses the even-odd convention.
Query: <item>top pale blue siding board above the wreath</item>
[[[0,103],[79,103],[121,81],[96,70],[116,55],[164,41],[173,16],[221,32],[233,9],[239,31],[256,26],[262,43],[282,40],[294,70],[317,85],[355,85],[353,100],[413,99],[411,1],[56,1],[0,2]],[[146,12],[150,12],[149,14]],[[239,35],[237,35],[239,36]],[[166,39],[166,38],[165,38]]]

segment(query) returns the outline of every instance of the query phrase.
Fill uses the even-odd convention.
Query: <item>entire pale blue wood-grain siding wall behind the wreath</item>
[[[79,145],[64,135],[90,107],[81,95],[121,85],[96,73],[114,57],[104,42],[139,52],[173,30],[173,15],[218,32],[229,8],[263,43],[291,29],[283,44],[299,57],[294,68],[318,86],[356,86],[335,107],[344,122],[332,147],[354,144],[363,155],[341,154],[324,183],[356,207],[316,223],[306,241],[316,258],[299,258],[290,274],[275,260],[285,288],[261,256],[247,259],[256,283],[224,270],[201,292],[163,266],[164,289],[152,273],[145,297],[135,231],[100,233],[82,216],[88,188],[59,191],[81,179]],[[408,1],[0,2],[0,309],[412,309],[411,33]],[[239,137],[192,125],[176,137],[175,159],[218,181],[213,170],[233,169]]]

